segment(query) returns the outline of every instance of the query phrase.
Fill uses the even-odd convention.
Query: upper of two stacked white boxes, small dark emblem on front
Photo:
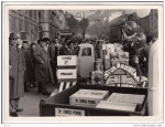
[[[57,56],[57,66],[76,66],[76,65],[77,65],[76,55]]]

